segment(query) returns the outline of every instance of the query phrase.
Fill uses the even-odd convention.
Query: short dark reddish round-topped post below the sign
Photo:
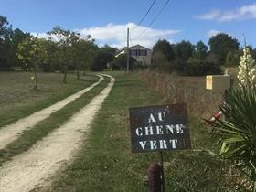
[[[149,192],[161,192],[161,166],[157,163],[149,165],[147,168]]]

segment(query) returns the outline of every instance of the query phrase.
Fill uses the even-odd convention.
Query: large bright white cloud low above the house
[[[133,29],[135,24],[128,23],[123,25],[114,25],[112,23],[102,27],[90,27],[77,29],[81,36],[91,35],[96,41],[100,42],[101,45],[108,44],[112,47],[123,48],[126,46],[126,31],[127,27],[130,28],[130,36],[132,45],[140,44],[142,46],[151,48],[155,41],[159,38],[171,38],[175,37],[180,31],[179,30],[162,30],[148,28],[144,34],[140,37],[140,34],[145,30],[146,27],[138,26]]]

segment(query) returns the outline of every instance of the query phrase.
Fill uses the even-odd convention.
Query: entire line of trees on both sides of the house
[[[251,48],[251,47],[250,47]],[[105,45],[99,48],[90,35],[53,27],[48,38],[37,38],[19,28],[13,29],[5,16],[0,16],[0,70],[24,69],[63,72],[64,81],[69,70],[126,69],[125,54],[115,57],[117,48]],[[256,58],[256,49],[251,48]],[[210,37],[208,46],[202,41],[192,45],[189,41],[170,44],[158,40],[153,47],[151,69],[176,71],[182,75],[219,74],[221,66],[239,65],[240,43],[235,37],[219,33]],[[130,67],[142,68],[130,58]]]

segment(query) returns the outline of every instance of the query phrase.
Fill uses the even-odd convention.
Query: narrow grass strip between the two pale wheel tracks
[[[53,112],[47,119],[37,123],[32,129],[23,132],[14,142],[8,144],[5,149],[0,150],[0,165],[14,155],[27,151],[33,144],[47,136],[48,133],[67,122],[75,112],[80,111],[92,98],[98,95],[108,82],[109,79],[105,78],[91,91],[84,93],[80,98],[70,102],[58,112]]]

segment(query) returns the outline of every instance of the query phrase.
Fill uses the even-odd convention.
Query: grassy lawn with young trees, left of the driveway
[[[39,91],[34,91],[30,76],[30,72],[0,72],[0,127],[46,108],[98,80],[91,75],[76,80],[74,74],[69,74],[68,83],[63,84],[60,73],[38,73]]]

